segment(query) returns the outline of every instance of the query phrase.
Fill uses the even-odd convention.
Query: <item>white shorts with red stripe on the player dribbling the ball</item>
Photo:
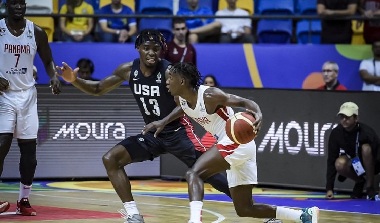
[[[230,164],[227,170],[229,188],[257,184],[256,143],[236,144],[223,138],[216,144],[219,153]]]

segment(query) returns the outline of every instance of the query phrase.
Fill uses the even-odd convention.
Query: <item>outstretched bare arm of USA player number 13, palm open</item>
[[[131,73],[132,62],[123,63],[119,65],[113,73],[100,81],[90,81],[84,80],[77,77],[77,72],[79,68],[74,70],[65,62],[62,66],[57,66],[57,69],[61,71],[58,73],[63,80],[70,82],[72,85],[80,89],[81,91],[92,94],[92,95],[102,95],[117,87],[119,87],[124,81],[129,81],[129,76]]]

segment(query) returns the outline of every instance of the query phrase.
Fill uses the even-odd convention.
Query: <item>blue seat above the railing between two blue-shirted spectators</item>
[[[173,0],[140,0],[138,11],[141,14],[173,15]]]

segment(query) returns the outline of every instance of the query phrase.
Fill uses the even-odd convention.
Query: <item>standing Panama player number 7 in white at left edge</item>
[[[59,94],[61,84],[45,31],[24,19],[25,0],[7,0],[8,16],[0,20],[0,175],[4,159],[17,138],[20,147],[20,194],[16,213],[36,215],[30,206],[38,132],[37,91],[34,87],[33,61],[38,52],[51,77],[53,94]],[[10,207],[0,202],[0,213]]]

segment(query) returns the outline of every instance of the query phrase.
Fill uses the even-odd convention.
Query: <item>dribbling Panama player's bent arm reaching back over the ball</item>
[[[256,121],[253,123],[256,126],[256,131],[259,131],[262,125],[262,113],[258,104],[252,100],[239,97],[233,94],[227,94],[219,88],[208,88],[205,91],[205,104],[208,111],[214,112],[220,106],[242,107],[251,113]]]

